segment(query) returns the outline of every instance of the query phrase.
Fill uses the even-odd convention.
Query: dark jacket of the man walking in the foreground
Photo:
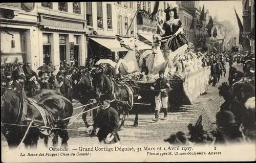
[[[119,131],[119,115],[113,108],[109,107],[105,110],[100,109],[97,114],[97,118],[94,123],[94,128],[99,128],[97,136],[101,142],[109,133],[115,133]]]

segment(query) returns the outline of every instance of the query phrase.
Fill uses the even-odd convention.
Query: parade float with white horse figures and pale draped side
[[[191,105],[208,89],[210,69],[202,66],[201,60],[204,55],[200,52],[193,53],[191,43],[184,44],[175,52],[162,50],[161,39],[160,36],[153,35],[152,50],[142,54],[137,50],[139,41],[137,42],[136,38],[121,40],[121,46],[128,51],[126,56],[117,63],[109,59],[100,59],[96,65],[110,64],[120,81],[136,80],[141,88],[142,103],[151,103],[153,106],[155,96],[150,87],[154,85],[158,79],[158,72],[162,70],[171,87],[169,103]]]

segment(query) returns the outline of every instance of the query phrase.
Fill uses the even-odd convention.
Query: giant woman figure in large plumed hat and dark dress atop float
[[[173,52],[188,43],[188,39],[183,32],[183,22],[178,16],[178,10],[178,5],[168,6],[168,8],[164,10],[166,13],[165,22],[163,28],[160,29],[164,32],[162,37],[171,37],[174,35],[174,38],[168,37],[165,39],[167,42],[161,44],[162,48],[167,48]],[[158,25],[158,28],[161,28],[160,25]]]

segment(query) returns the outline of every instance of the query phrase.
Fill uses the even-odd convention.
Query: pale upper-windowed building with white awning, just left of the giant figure
[[[137,2],[86,2],[88,56],[117,61],[127,53],[119,41],[137,34]],[[140,46],[150,49],[150,46]]]

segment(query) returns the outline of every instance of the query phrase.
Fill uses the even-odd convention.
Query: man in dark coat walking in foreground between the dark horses
[[[99,128],[97,133],[99,142],[106,144],[114,144],[120,141],[119,131],[119,115],[118,112],[110,106],[110,100],[101,100],[101,107],[97,113],[95,123],[89,127],[89,132]]]

